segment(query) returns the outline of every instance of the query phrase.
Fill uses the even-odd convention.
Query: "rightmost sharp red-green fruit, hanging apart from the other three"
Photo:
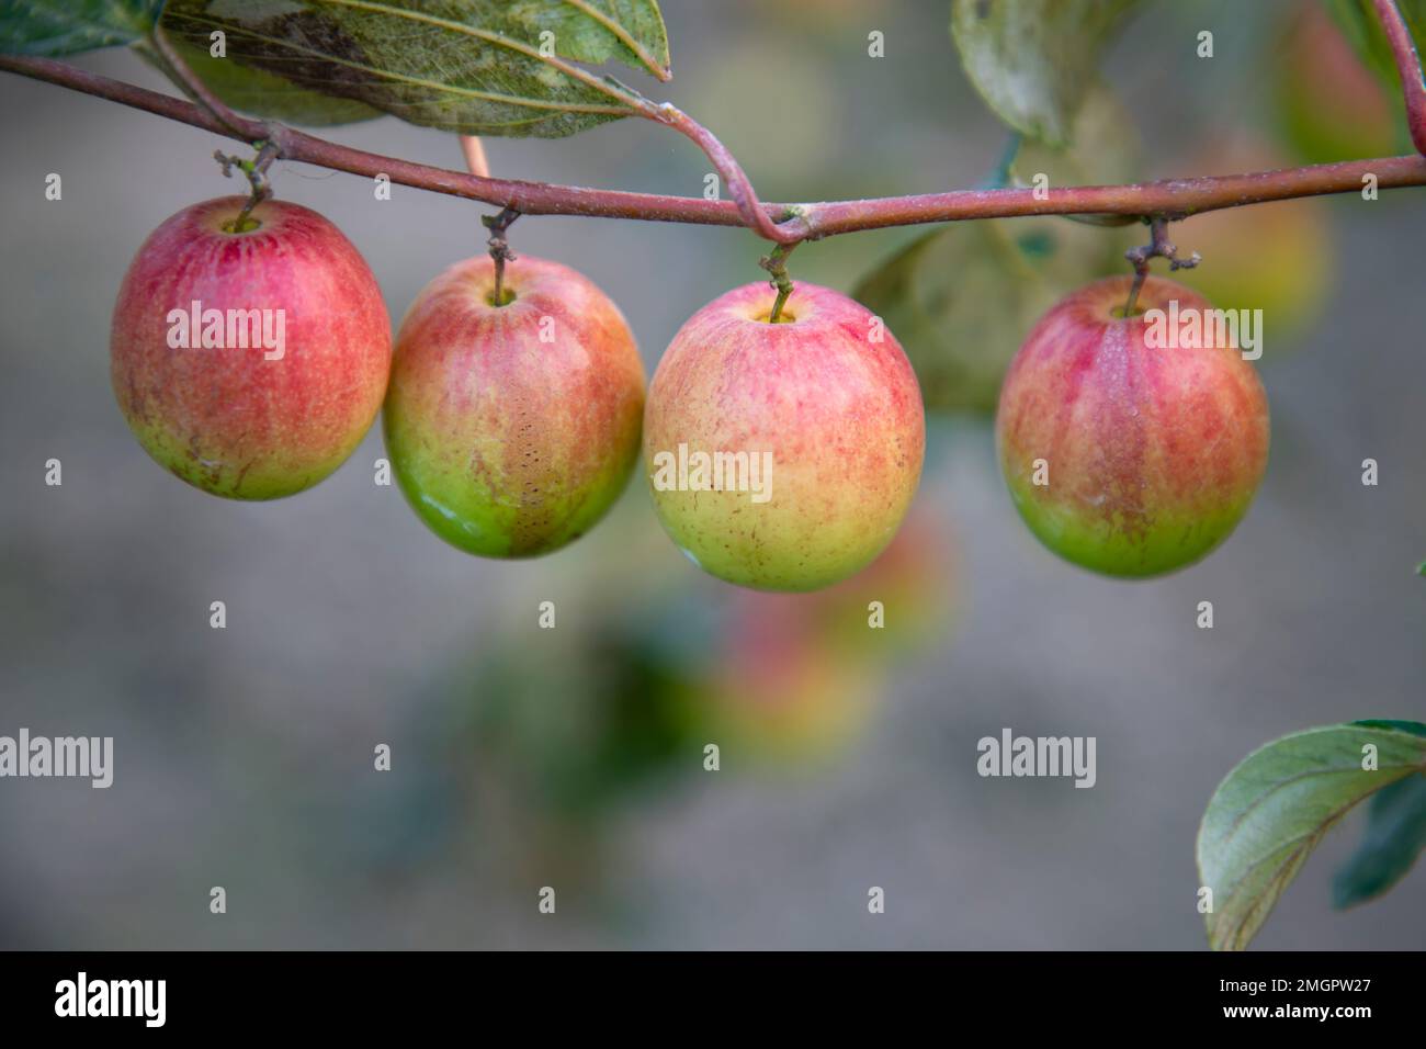
[[[1112,313],[1129,284],[1098,281],[1040,320],[1005,374],[995,432],[1015,507],[1050,549],[1148,577],[1199,559],[1242,520],[1268,465],[1268,400],[1232,345],[1149,345],[1145,315]],[[1181,318],[1211,310],[1158,277],[1138,308],[1169,314],[1171,300]]]

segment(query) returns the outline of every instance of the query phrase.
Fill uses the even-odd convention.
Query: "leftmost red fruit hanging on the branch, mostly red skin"
[[[144,241],[114,305],[111,377],[155,461],[214,495],[272,500],[312,487],[361,442],[386,390],[391,320],[335,225],[270,200],[252,211],[258,228],[225,231],[245,201],[194,204]],[[191,314],[195,300],[224,317],[270,311],[270,334],[281,315],[281,357],[247,320],[247,348],[228,344],[227,323],[222,347],[204,347],[201,325],[170,345],[171,311]]]

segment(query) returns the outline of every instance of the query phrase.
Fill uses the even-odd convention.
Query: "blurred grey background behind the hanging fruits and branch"
[[[620,76],[713,128],[764,200],[971,187],[1001,161],[944,3],[663,9],[673,83]],[[78,61],[165,90],[125,51]],[[1315,4],[1154,3],[1105,74],[1144,176],[1405,151],[1395,103]],[[1272,462],[1201,565],[1124,584],[1060,562],[1015,517],[985,417],[935,412],[887,555],[836,591],[769,597],[682,558],[637,478],[552,557],[461,554],[372,482],[379,428],[298,498],[180,484],[114,404],[108,315],[153,227],[240,191],[211,158],[232,144],[9,74],[0,93],[0,734],[111,735],[116,754],[107,791],[0,784],[0,946],[1201,949],[1194,835],[1222,776],[1295,729],[1426,715],[1423,191],[1172,227],[1219,305],[1266,311]],[[331,137],[461,166],[455,138],[392,118]],[[707,171],[646,121],[486,148],[499,176],[609,188],[697,196]],[[51,171],[61,201],[44,200]],[[481,206],[274,176],[361,248],[394,321],[483,250]],[[1092,238],[1071,285],[1122,265],[1138,234],[1005,227],[1031,254]],[[793,277],[850,293],[924,234],[810,244]],[[602,285],[650,374],[696,308],[763,278],[742,230],[529,217],[511,238]],[[948,254],[944,283],[975,261]],[[1002,363],[1027,330],[1012,320],[967,323],[950,353]],[[928,400],[948,353],[934,335],[903,335]],[[1360,484],[1368,457],[1379,487]],[[866,629],[870,599],[886,631]],[[1097,785],[977,776],[977,741],[1002,728],[1097,736]],[[1426,945],[1422,871],[1330,909],[1359,819],[1258,946]],[[227,915],[208,911],[215,885]]]

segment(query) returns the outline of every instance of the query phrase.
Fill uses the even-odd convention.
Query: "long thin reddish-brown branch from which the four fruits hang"
[[[1426,186],[1426,157],[1416,156],[1355,160],[1239,176],[1169,178],[1129,186],[1075,186],[1052,188],[1040,200],[1035,198],[1035,191],[1031,188],[955,190],[914,197],[881,197],[819,204],[761,204],[752,196],[752,187],[747,187],[749,196],[743,201],[663,197],[650,193],[479,178],[461,171],[354,150],[282,124],[241,117],[237,118],[235,128],[228,128],[204,108],[183,98],[150,91],[50,59],[0,56],[0,70],[117,101],[228,138],[250,143],[270,140],[277,144],[284,160],[349,171],[368,178],[385,174],[391,181],[402,186],[479,200],[526,216],[559,214],[702,225],[753,225],[757,233],[777,243],[816,240],[888,225],[917,225],[965,218],[1119,214],[1179,220],[1201,211],[1272,200],[1356,193],[1360,191],[1363,178],[1368,176],[1375,176],[1379,188],[1383,190]],[[684,133],[687,134],[687,131]],[[729,181],[730,190],[734,181],[736,178]],[[746,176],[743,181],[746,183]],[[744,214],[749,208],[752,208],[752,216]],[[779,220],[789,216],[793,217],[790,221],[779,224]],[[756,224],[750,221],[750,218],[757,217],[760,221]],[[764,225],[767,231],[764,231]]]

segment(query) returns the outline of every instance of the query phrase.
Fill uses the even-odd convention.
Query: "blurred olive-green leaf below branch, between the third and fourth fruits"
[[[930,411],[990,414],[1015,351],[1045,310],[1127,270],[1121,231],[1058,217],[951,223],[880,264],[851,293],[886,321]]]

